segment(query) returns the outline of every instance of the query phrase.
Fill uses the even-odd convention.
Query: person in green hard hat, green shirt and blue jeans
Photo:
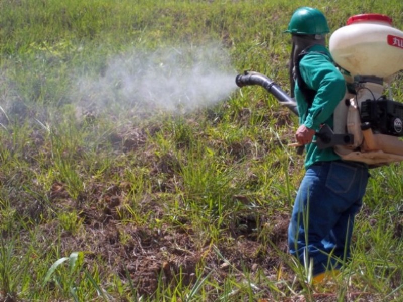
[[[313,282],[338,271],[350,257],[354,217],[362,206],[368,166],[342,161],[332,147],[319,149],[315,133],[333,126],[333,112],[346,92],[346,82],[325,47],[329,27],[317,9],[301,7],[292,15],[290,82],[299,124],[295,138],[305,145],[305,170],[289,225],[289,250],[312,265]]]

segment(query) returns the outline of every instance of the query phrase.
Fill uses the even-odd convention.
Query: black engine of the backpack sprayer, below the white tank
[[[374,133],[403,136],[403,104],[387,100],[366,100],[361,103],[361,121],[369,123]]]

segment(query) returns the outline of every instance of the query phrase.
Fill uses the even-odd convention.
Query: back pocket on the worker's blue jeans
[[[326,178],[326,188],[338,194],[347,193],[353,185],[356,173],[356,167],[332,162]]]

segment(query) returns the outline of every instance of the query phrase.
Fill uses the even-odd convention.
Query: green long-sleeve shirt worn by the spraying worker
[[[299,123],[315,131],[319,131],[321,124],[327,124],[332,128],[333,111],[346,93],[346,82],[324,46],[314,45],[307,52],[308,54],[299,63],[299,70],[302,80],[317,93],[312,106],[308,109],[308,104],[296,83],[294,94]],[[316,137],[313,140],[316,140]],[[316,162],[340,160],[332,147],[319,150],[315,143],[309,143],[305,149],[305,169]]]

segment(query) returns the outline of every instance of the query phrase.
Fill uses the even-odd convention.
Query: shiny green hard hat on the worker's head
[[[322,35],[330,32],[326,17],[317,9],[301,7],[291,17],[287,33]]]

